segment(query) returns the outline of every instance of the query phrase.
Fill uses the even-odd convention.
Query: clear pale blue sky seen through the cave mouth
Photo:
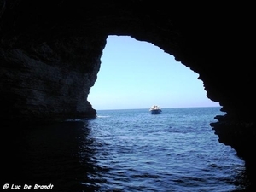
[[[198,74],[172,55],[128,36],[108,36],[88,101],[96,110],[217,107]]]

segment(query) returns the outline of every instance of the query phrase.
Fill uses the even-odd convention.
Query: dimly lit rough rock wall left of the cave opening
[[[87,96],[105,38],[62,38],[1,50],[2,118],[27,122],[95,117]]]

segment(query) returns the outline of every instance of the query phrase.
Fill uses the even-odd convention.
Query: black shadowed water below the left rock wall
[[[57,191],[99,189],[91,178],[99,167],[86,121],[17,128],[5,126],[3,183],[51,183]]]

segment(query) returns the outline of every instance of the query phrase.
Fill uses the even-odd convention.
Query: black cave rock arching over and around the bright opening
[[[212,124],[219,141],[253,166],[253,4],[178,2],[0,0],[1,118],[95,116],[87,96],[106,38],[129,35],[200,74],[207,96],[227,113]]]

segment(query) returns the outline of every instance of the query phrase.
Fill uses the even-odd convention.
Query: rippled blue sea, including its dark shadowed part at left
[[[244,161],[210,126],[223,114],[220,107],[98,110],[96,119],[4,127],[1,188],[239,191],[247,185]]]

